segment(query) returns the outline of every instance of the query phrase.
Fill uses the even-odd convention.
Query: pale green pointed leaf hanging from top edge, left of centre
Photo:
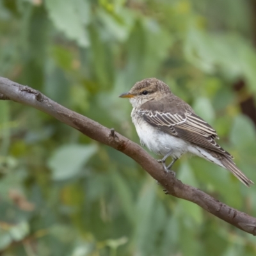
[[[84,1],[45,0],[45,6],[56,28],[63,31],[68,38],[76,40],[81,47],[90,45],[86,27],[84,26],[84,24],[88,23],[88,19],[84,19],[81,15],[81,10],[84,6],[86,6],[84,15],[88,15],[89,6]]]

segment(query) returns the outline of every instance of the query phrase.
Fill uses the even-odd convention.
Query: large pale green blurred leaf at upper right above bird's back
[[[230,79],[239,77],[243,72],[239,56],[243,44],[237,36],[202,31],[196,22],[191,22],[184,52],[186,58],[204,72],[221,70]]]

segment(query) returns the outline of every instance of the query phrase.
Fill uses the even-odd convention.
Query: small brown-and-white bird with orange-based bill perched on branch
[[[131,118],[140,143],[163,156],[158,161],[166,172],[173,172],[170,169],[175,161],[189,153],[227,169],[247,187],[253,184],[237,168],[234,157],[216,143],[219,137],[211,125],[196,115],[188,103],[174,95],[163,81],[143,79],[119,97],[129,98]],[[172,163],[166,166],[168,157],[172,157]]]

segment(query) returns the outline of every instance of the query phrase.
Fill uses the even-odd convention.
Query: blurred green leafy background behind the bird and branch
[[[139,143],[118,98],[157,77],[256,181],[256,6],[243,0],[0,0],[1,76]],[[0,102],[1,255],[255,255],[255,237],[164,195],[132,159]],[[197,157],[178,179],[256,216],[256,188]]]

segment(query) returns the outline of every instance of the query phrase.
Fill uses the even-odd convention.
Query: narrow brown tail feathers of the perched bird
[[[250,188],[250,185],[254,184],[252,180],[248,179],[239,168],[237,168],[236,164],[232,161],[230,157],[221,157],[221,164],[223,164],[224,168],[228,171],[232,172],[237,179],[239,179],[245,186]]]

